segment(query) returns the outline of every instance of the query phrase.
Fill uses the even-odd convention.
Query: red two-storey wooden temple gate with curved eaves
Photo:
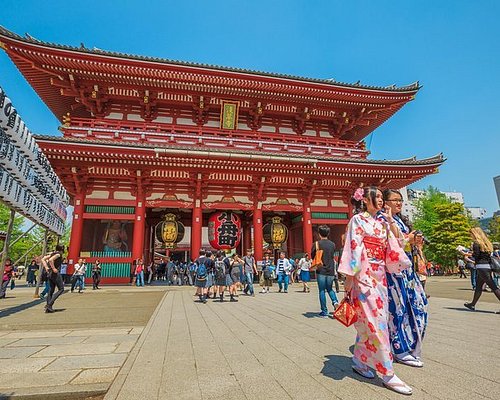
[[[364,138],[414,99],[418,83],[369,87],[49,44],[0,28],[0,47],[61,120],[38,136],[72,197],[70,264],[100,258],[122,282],[150,259],[170,211],[196,257],[216,210],[243,220],[242,248],[262,258],[262,226],[280,215],[289,254],[328,224],[339,245],[360,185],[400,188],[441,155],[370,160]],[[187,247],[186,247],[187,246]]]

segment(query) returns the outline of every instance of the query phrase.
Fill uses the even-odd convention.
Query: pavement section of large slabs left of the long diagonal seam
[[[0,302],[0,399],[105,393],[165,289],[65,293],[54,314],[33,291],[17,287]]]

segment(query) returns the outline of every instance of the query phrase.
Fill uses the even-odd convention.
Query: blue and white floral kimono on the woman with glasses
[[[380,219],[384,219],[379,215]],[[394,216],[401,231],[401,244],[408,245],[407,235],[410,229],[398,216]],[[412,260],[411,251],[407,256]],[[427,327],[427,297],[414,271],[413,266],[399,274],[387,273],[387,288],[389,291],[389,334],[392,351],[395,355],[410,353],[420,358],[422,340]]]

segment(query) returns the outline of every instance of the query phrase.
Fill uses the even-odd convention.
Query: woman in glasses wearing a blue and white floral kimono
[[[420,356],[427,326],[427,297],[418,277],[419,259],[412,255],[411,246],[417,245],[416,237],[401,217],[403,205],[401,193],[387,189],[383,194],[385,208],[390,210],[394,221],[391,224],[391,231],[405,249],[408,258],[416,261],[416,265],[401,273],[387,273],[392,352],[397,362],[411,367],[422,367]],[[378,217],[387,222],[383,213],[379,212]]]

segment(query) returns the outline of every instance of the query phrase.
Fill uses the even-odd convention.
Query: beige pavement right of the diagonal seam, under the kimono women
[[[400,398],[351,371],[354,328],[318,318],[316,288],[298,289],[205,305],[167,292],[105,400]],[[396,365],[414,399],[499,398],[499,305],[462,304],[433,295],[424,368]]]

